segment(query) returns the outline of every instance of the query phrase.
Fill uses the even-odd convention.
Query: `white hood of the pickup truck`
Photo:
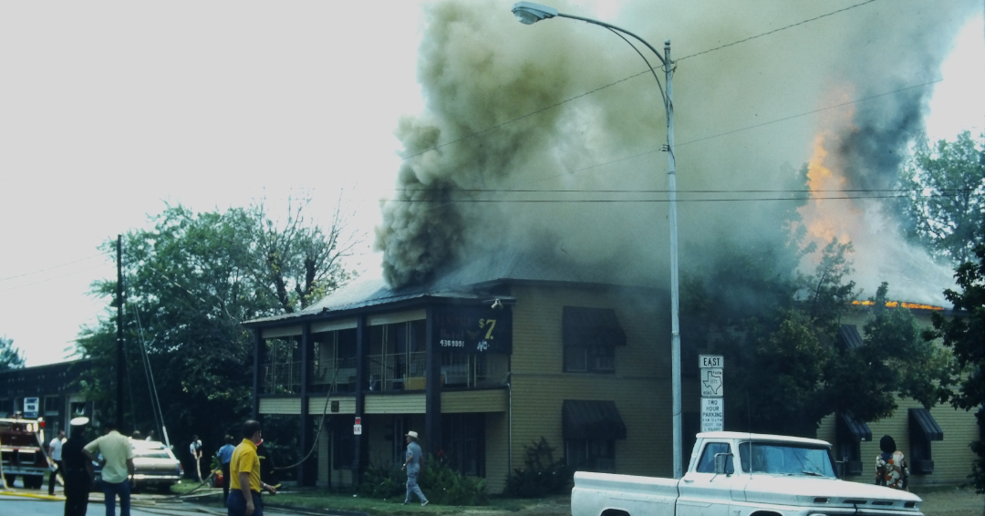
[[[746,502],[802,506],[919,511],[916,494],[881,485],[817,477],[755,474],[746,484]]]

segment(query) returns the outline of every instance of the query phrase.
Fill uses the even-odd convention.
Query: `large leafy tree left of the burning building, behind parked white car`
[[[262,205],[201,214],[168,206],[153,227],[125,235],[124,410],[135,429],[158,427],[160,400],[172,442],[198,433],[218,445],[248,415],[252,337],[240,323],[303,308],[352,276],[342,260],[356,239],[344,238],[341,212],[322,229],[303,217],[304,203],[292,206],[280,222]],[[111,298],[115,286],[94,290]],[[115,316],[78,340],[82,355],[98,358],[81,383],[102,414],[114,414],[106,378],[115,377]]]

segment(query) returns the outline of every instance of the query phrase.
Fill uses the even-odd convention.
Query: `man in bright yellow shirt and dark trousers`
[[[226,502],[229,516],[263,516],[260,491],[277,494],[273,485],[260,482],[260,458],[256,446],[263,440],[260,422],[243,423],[243,441],[232,451],[230,460],[230,498]]]

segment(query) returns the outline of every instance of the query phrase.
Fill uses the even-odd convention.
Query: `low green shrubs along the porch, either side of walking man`
[[[403,500],[407,494],[407,476],[396,465],[389,468],[370,465],[362,474],[360,494],[379,499]],[[428,455],[418,477],[427,500],[438,505],[489,505],[486,479],[462,475],[444,460]]]

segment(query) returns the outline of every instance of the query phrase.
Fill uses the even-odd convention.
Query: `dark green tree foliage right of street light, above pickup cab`
[[[806,276],[798,264],[813,249],[800,243],[802,232],[789,234],[783,245],[775,237],[719,243],[706,253],[716,260],[683,283],[684,344],[730,364],[727,428],[814,436],[837,412],[874,421],[890,416],[899,397],[925,407],[946,400],[950,355],[921,335],[908,310],[886,307],[886,285],[872,299],[862,346],[841,345],[839,329],[859,309],[852,246],[829,242]]]

